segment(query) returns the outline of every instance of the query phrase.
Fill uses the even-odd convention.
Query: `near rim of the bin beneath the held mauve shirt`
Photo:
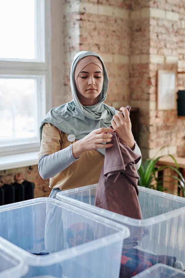
[[[102,215],[103,217],[106,217],[108,219],[112,219],[113,221],[127,224],[127,225],[133,225],[133,226],[138,226],[138,227],[147,227],[149,225],[153,225],[156,223],[160,223],[161,221],[171,219],[173,217],[176,217],[177,215],[180,215],[182,213],[185,214],[185,207],[181,207],[179,209],[172,210],[170,212],[165,212],[164,214],[159,214],[153,217],[149,217],[146,219],[134,219],[128,216],[124,216],[121,214],[117,214],[114,212],[110,212],[105,209],[101,209],[99,207],[95,207],[94,205],[90,205],[75,199],[72,199],[70,197],[67,197],[65,195],[61,195],[60,193],[57,193],[57,198],[61,201],[71,203],[74,206],[77,206],[79,208],[86,209],[88,211],[94,212],[95,214]]]

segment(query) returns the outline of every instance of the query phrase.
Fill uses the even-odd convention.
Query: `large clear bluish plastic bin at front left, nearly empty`
[[[123,225],[52,198],[3,205],[0,223],[2,244],[29,266],[25,278],[119,277]]]

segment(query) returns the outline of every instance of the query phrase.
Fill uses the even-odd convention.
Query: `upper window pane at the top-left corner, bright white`
[[[0,0],[0,58],[43,59],[44,5],[39,3],[43,2]]]

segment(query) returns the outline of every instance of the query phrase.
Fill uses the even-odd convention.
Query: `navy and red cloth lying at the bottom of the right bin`
[[[130,278],[154,264],[162,263],[174,266],[176,257],[168,255],[154,255],[131,248],[122,250],[119,278]]]

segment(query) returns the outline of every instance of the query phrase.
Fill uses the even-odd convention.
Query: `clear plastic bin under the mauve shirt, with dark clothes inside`
[[[143,215],[143,220],[139,220],[95,207],[97,186],[61,191],[57,193],[57,198],[66,202],[70,200],[72,205],[113,219],[130,229],[131,235],[123,244],[123,277],[131,277],[131,274],[137,274],[156,263],[173,266],[177,260],[185,266],[185,198],[138,187]],[[126,252],[127,249],[131,251],[130,254]],[[124,259],[125,254],[126,259],[131,256],[129,266]],[[127,266],[131,274],[125,270]]]

